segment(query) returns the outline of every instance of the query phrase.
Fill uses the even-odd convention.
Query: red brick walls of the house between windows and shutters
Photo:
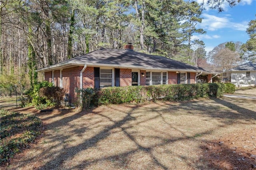
[[[80,67],[71,67],[62,70],[62,87],[66,93],[69,94],[70,102],[76,101],[76,88],[80,88],[80,71],[83,69]],[[146,85],[146,70],[141,70],[145,76],[140,76],[140,85]],[[195,83],[196,73],[190,73],[190,83]],[[208,81],[210,82],[212,75],[208,75]],[[52,71],[44,73],[46,81],[52,82]],[[54,71],[54,83],[56,86],[60,86],[60,70]],[[168,71],[168,84],[177,84],[176,71]],[[132,69],[120,69],[120,86],[132,85]],[[86,67],[83,72],[83,88],[94,88],[94,67]]]

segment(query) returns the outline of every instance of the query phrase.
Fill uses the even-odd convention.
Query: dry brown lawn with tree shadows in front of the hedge
[[[241,153],[256,155],[250,138],[256,130],[255,103],[223,98],[35,112],[44,123],[44,136],[7,169],[250,168],[255,159],[237,159]],[[234,134],[243,139],[235,140]],[[244,140],[249,148],[242,146]]]

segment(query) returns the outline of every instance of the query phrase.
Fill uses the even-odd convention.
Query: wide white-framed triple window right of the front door
[[[167,80],[167,72],[146,72],[146,85],[166,85]]]

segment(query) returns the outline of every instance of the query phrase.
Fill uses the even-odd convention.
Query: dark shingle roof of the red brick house
[[[39,69],[38,71],[45,71],[53,67],[58,67],[58,65],[64,65],[67,63],[83,63],[87,65],[109,66],[118,65],[120,67],[133,67],[138,69],[188,70],[195,72],[202,71],[205,73],[213,73],[212,71],[208,71],[201,67],[196,67],[158,55],[149,55],[136,51],[108,48],[101,48],[88,54],[63,61],[56,65]]]

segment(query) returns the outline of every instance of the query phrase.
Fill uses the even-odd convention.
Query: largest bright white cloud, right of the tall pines
[[[210,14],[202,14],[202,23],[198,24],[204,30],[216,31],[222,28],[230,28],[231,30],[246,31],[248,24],[246,22],[235,23],[231,22],[228,17],[217,17]]]

